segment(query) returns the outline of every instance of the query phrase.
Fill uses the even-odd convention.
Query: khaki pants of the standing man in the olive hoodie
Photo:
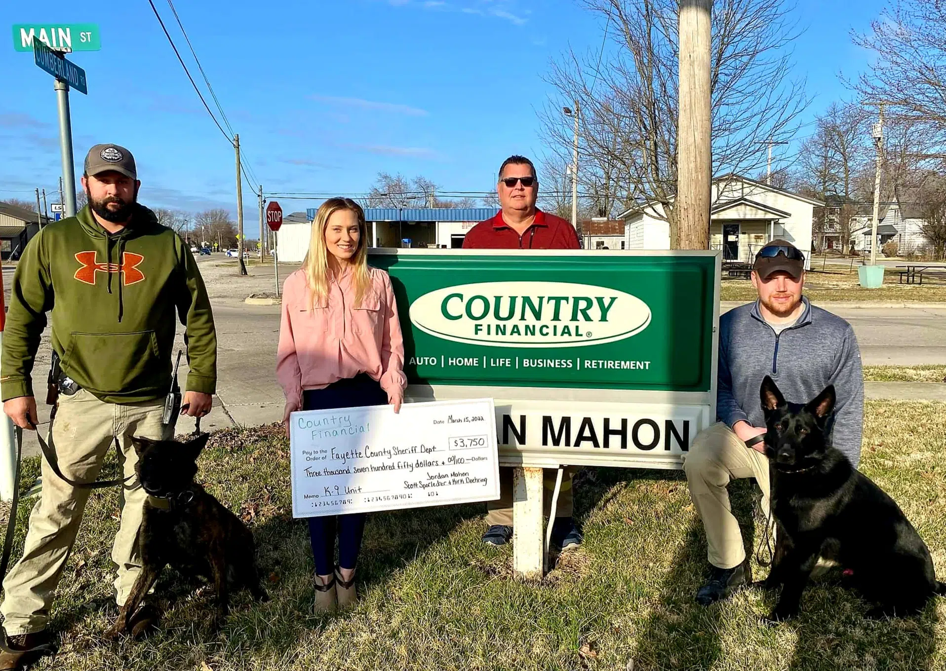
[[[112,547],[112,560],[118,566],[114,589],[119,606],[125,603],[141,570],[138,528],[148,497],[134,474],[138,457],[131,437],[166,438],[166,429],[161,423],[163,410],[164,400],[107,404],[80,389],[73,396],[60,396],[53,422],[53,441],[63,475],[81,482],[95,480],[117,438],[122,476],[132,476],[120,492],[121,522]],[[4,601],[0,611],[9,635],[46,628],[53,594],[76,541],[90,492],[61,480],[43,459],[43,494],[29,514],[23,558],[13,566],[3,583]]]

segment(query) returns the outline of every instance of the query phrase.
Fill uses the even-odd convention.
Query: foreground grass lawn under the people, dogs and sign
[[[865,415],[864,471],[901,504],[946,576],[946,404],[870,401]],[[26,471],[32,483],[35,459]],[[760,623],[772,598],[755,589],[697,606],[706,547],[682,473],[580,473],[585,545],[537,584],[511,576],[511,548],[482,545],[482,506],[369,515],[363,598],[335,616],[311,614],[312,560],[305,525],[290,518],[281,431],[215,435],[200,478],[252,527],[272,600],[237,594],[226,626],[213,632],[212,590],[168,571],[158,583],[163,632],[143,643],[103,641],[115,614],[109,552],[118,508],[114,490],[93,493],[52,613],[61,652],[38,668],[946,669],[946,599],[920,617],[866,621],[866,605],[828,581],[808,590],[797,621],[776,628]],[[750,518],[750,483],[730,490]],[[19,510],[15,556],[29,505]],[[744,528],[754,542],[752,525]]]

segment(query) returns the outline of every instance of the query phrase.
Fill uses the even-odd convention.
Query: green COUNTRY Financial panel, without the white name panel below
[[[709,392],[713,252],[372,255],[414,385]]]

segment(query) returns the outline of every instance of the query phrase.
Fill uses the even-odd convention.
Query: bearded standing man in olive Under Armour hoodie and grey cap
[[[162,415],[176,318],[186,327],[190,366],[182,414],[207,414],[217,384],[217,337],[201,273],[184,241],[137,203],[140,185],[128,149],[89,150],[82,176],[89,204],[40,231],[16,269],[0,362],[4,412],[35,430],[31,372],[50,313],[62,370],[52,423],[61,471],[94,481],[116,443],[123,476],[131,476],[122,486],[112,552],[118,605],[141,569],[136,538],[147,498],[134,476],[131,437],[166,439],[173,432]],[[43,495],[29,517],[24,555],[4,580],[0,611],[13,648],[49,641],[49,608],[89,491],[70,486],[44,460]],[[139,630],[156,620],[147,606],[137,615]],[[17,668],[27,662],[22,658],[4,652],[0,669]]]

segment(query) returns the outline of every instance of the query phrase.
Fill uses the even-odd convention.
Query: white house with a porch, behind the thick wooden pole
[[[722,249],[723,260],[751,263],[770,240],[788,240],[805,253],[812,249],[815,207],[824,203],[799,196],[741,175],[712,182],[710,249]],[[658,203],[628,209],[625,222],[627,249],[670,249],[670,224]]]

